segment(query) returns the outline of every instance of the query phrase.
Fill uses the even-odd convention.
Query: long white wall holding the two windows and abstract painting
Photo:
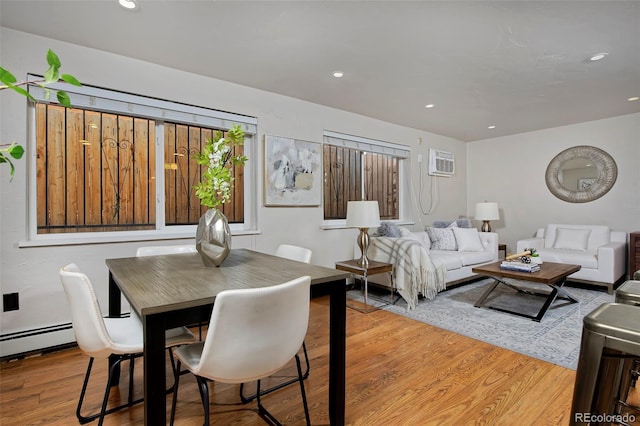
[[[416,191],[420,187],[416,173],[417,155],[423,155],[426,166],[428,148],[452,151],[457,161],[456,175],[437,179],[441,201],[429,217],[419,213],[415,207],[414,226],[422,228],[436,219],[467,214],[466,147],[457,140],[6,28],[0,28],[0,31],[0,64],[13,72],[19,80],[24,79],[28,72],[44,73],[45,54],[51,48],[61,58],[63,72],[75,75],[86,84],[257,117],[260,144],[257,158],[252,160],[260,165],[260,181],[263,176],[262,141],[265,134],[322,142],[323,130],[333,130],[409,145],[412,149],[414,171],[412,186]],[[257,64],[256,72],[259,72]],[[26,145],[26,105],[26,100],[21,96],[9,91],[0,94],[1,141],[15,140]],[[105,259],[133,256],[136,248],[145,244],[138,242],[18,248],[18,243],[27,238],[28,175],[25,160],[16,165],[16,175],[11,183],[8,167],[0,167],[0,287],[3,294],[20,294],[20,309],[0,314],[0,338],[7,337],[10,333],[70,320],[58,278],[58,269],[69,262],[77,263],[89,275],[102,307],[106,309]],[[425,177],[424,182],[426,189],[423,198],[428,200],[430,179]],[[322,207],[264,207],[261,185],[262,182],[258,188],[257,213],[260,233],[234,237],[234,247],[273,252],[282,242],[303,245],[313,250],[313,263],[324,266],[333,266],[335,261],[352,257],[356,230],[322,230]],[[176,244],[180,242],[175,241]],[[1,343],[0,355],[51,346],[70,339],[72,336],[67,332],[49,338],[38,336],[5,340]]]

